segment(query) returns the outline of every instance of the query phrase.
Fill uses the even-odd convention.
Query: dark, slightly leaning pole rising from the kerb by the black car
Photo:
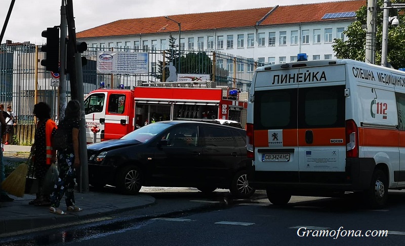
[[[79,159],[80,159],[80,183],[79,192],[89,192],[89,167],[87,162],[87,141],[86,141],[86,118],[84,106],[84,89],[83,89],[83,68],[82,55],[78,53],[76,46],[76,27],[73,17],[73,1],[67,0],[66,19],[68,25],[69,41],[67,61],[70,74],[70,88],[72,99],[80,102],[80,111],[82,117],[79,125]]]

